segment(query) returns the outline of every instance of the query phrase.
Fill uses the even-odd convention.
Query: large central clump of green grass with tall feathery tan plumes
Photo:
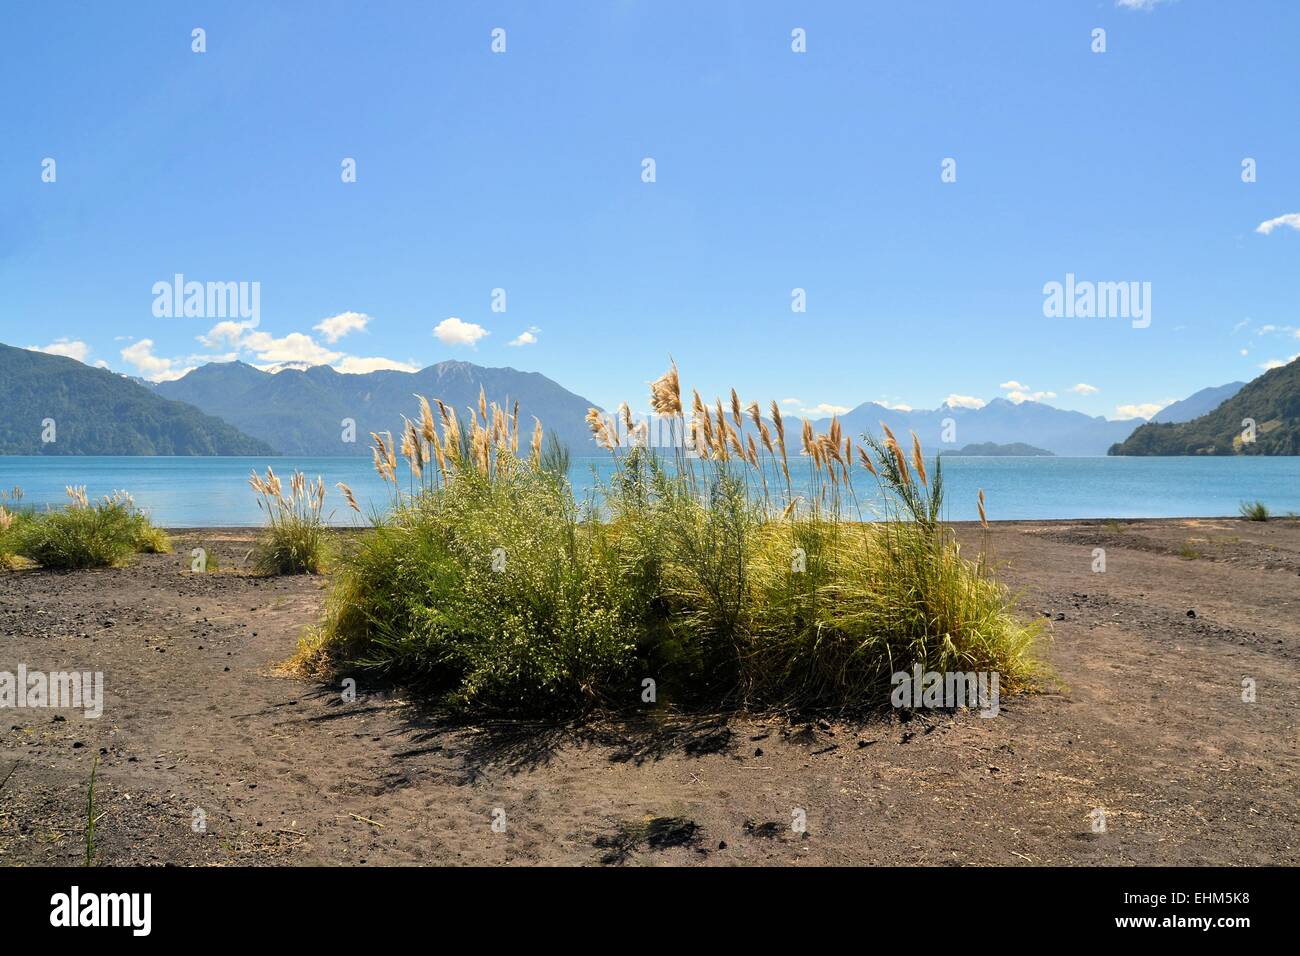
[[[805,424],[792,459],[779,407],[746,415],[733,393],[728,416],[697,395],[688,419],[676,369],[651,405],[690,451],[646,449],[625,408],[614,421],[593,410],[615,470],[585,501],[540,425],[519,453],[517,407],[481,397],[463,429],[422,403],[400,438],[408,475],[374,436],[393,506],[342,558],[296,663],[504,713],[627,708],[646,679],[659,702],[708,708],[872,706],[915,663],[998,671],[1004,689],[1032,680],[1037,624],[962,554],[919,442],[911,463],[888,433],[854,459],[837,423],[823,436]],[[792,467],[810,492],[794,494]],[[883,511],[857,501],[853,467],[875,476]]]

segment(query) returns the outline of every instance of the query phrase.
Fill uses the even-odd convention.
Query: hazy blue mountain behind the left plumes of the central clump
[[[439,362],[419,372],[344,375],[329,365],[264,372],[242,362],[200,365],[157,394],[188,402],[265,441],[285,455],[369,455],[370,432],[398,433],[402,416],[416,419],[416,395],[441,398],[465,420],[482,388],[489,402],[508,410],[519,401],[520,431],[530,434],[533,416],[555,431],[575,453],[592,447],[584,421],[592,402],[537,372]],[[355,441],[344,441],[344,420],[355,421]]]

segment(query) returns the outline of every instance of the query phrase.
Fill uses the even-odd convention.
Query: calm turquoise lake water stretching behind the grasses
[[[792,463],[793,464],[793,463]],[[802,464],[802,463],[801,463]],[[354,524],[334,483],[351,485],[363,507],[382,507],[385,485],[368,458],[98,458],[0,457],[0,488],[20,485],[29,505],[62,505],[65,485],[91,497],[125,489],[157,524],[170,528],[261,524],[248,472],[321,475],[335,524]],[[803,471],[803,468],[792,468]],[[610,472],[608,458],[575,458],[569,479],[581,494]],[[854,470],[866,501],[875,483]],[[1262,501],[1274,514],[1300,511],[1300,457],[1292,458],[945,458],[946,512],[974,520],[984,489],[988,516],[1213,518]]]

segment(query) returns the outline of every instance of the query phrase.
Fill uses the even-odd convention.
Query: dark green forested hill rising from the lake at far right
[[[1247,441],[1248,421],[1254,423],[1253,441]],[[1300,359],[1269,369],[1205,415],[1145,424],[1110,454],[1300,455]]]

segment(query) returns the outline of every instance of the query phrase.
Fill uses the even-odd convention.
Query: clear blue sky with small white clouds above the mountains
[[[1300,352],[1297,36],[1290,0],[12,4],[0,341],[1150,414]],[[259,282],[257,326],[155,315],[176,273]],[[1046,317],[1067,273],[1150,282],[1150,325]]]

